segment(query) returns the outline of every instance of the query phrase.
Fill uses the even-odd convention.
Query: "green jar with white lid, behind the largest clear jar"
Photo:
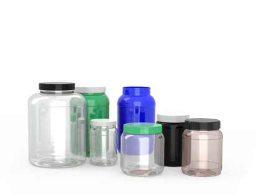
[[[91,119],[109,119],[109,98],[106,93],[106,86],[76,86],[76,93],[84,96],[86,101],[86,156],[89,154],[89,130]]]

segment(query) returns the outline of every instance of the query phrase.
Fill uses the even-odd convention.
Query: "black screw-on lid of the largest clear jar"
[[[75,83],[66,83],[66,82],[39,83],[39,90],[45,90],[45,91],[75,90]]]

